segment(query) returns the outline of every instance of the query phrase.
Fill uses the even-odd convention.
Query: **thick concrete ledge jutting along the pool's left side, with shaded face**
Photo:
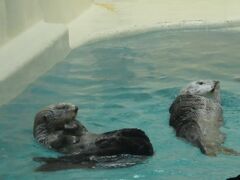
[[[66,27],[40,22],[0,50],[0,105],[25,87],[70,51]]]

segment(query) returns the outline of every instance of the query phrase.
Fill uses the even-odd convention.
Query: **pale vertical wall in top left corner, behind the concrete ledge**
[[[39,21],[68,23],[93,0],[0,0],[0,46]]]

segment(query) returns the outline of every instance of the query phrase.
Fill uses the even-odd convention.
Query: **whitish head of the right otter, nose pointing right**
[[[216,102],[220,102],[220,83],[214,80],[199,80],[189,83],[180,94],[204,96]]]

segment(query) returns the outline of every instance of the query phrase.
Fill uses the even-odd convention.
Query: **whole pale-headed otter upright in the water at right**
[[[223,116],[219,81],[202,80],[188,84],[169,112],[170,126],[176,130],[176,136],[197,146],[202,153],[209,156],[218,153],[240,155],[222,146],[225,135],[220,131]]]

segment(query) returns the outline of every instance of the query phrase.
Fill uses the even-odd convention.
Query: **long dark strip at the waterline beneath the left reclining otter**
[[[89,156],[89,155],[67,155],[58,158],[35,157],[36,162],[43,163],[35,171],[59,171],[78,168],[123,168],[142,163],[147,156],[138,155],[113,155],[113,156]]]

